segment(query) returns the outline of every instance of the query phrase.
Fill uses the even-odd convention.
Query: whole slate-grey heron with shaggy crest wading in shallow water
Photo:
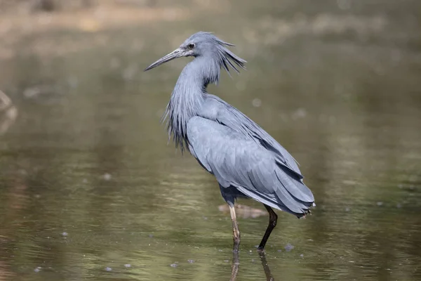
[[[221,68],[245,69],[246,60],[229,51],[234,46],[209,32],[197,32],[179,48],[145,69],[193,56],[182,70],[166,107],[168,135],[213,174],[232,218],[234,251],[240,244],[236,197],[251,197],[269,212],[269,226],[258,249],[263,250],[278,216],[272,208],[305,217],[314,196],[303,183],[295,159],[265,130],[232,105],[206,91],[217,83]],[[237,68],[239,67],[239,68]]]

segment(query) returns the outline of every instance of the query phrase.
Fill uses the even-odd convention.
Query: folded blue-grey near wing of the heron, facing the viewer
[[[296,215],[305,214],[312,206],[312,192],[296,173],[241,133],[218,122],[193,117],[187,124],[187,137],[192,155],[215,175],[222,187],[234,186],[255,200]]]

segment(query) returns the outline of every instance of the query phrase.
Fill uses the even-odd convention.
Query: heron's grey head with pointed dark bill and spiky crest
[[[237,55],[229,51],[227,46],[234,46],[225,41],[222,41],[218,37],[215,37],[210,32],[197,32],[191,37],[186,39],[180,47],[176,48],[168,55],[163,56],[155,63],[145,68],[145,71],[152,70],[152,68],[167,63],[170,60],[181,57],[201,57],[208,56],[214,58],[220,64],[220,67],[224,67],[229,72],[228,66],[232,67],[236,72],[239,70],[236,65],[245,69],[246,60],[239,58]]]

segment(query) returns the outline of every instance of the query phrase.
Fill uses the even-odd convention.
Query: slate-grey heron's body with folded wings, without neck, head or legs
[[[234,202],[239,194],[226,190],[233,186],[270,207],[307,214],[314,198],[288,152],[281,153],[268,133],[220,98],[206,96],[202,108],[187,122],[189,151],[215,175],[225,200]]]

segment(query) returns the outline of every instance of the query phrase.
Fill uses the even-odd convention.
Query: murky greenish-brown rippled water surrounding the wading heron
[[[247,3],[182,22],[34,33],[0,62],[19,113],[0,136],[0,280],[230,279],[218,184],[159,123],[188,59],[141,71],[197,30],[248,60],[210,92],[284,145],[316,197],[306,220],[278,212],[266,250],[274,280],[421,279],[420,5]],[[52,41],[51,54],[33,51]],[[62,42],[73,51],[55,53]],[[266,279],[255,245],[267,219],[239,218],[237,280]]]

